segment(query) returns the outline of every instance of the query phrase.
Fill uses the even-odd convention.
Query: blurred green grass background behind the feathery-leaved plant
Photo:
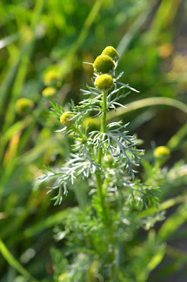
[[[53,238],[54,226],[77,204],[70,191],[63,204],[54,207],[46,183],[36,180],[44,165],[58,166],[70,152],[63,135],[54,133],[58,121],[49,114],[49,99],[41,94],[50,71],[62,81],[59,93],[50,99],[65,108],[71,99],[77,104],[80,88],[90,85],[92,78],[92,66],[83,61],[92,63],[104,47],[114,46],[120,55],[118,71],[124,71],[121,82],[140,94],[128,95],[128,111],[110,118],[131,121],[129,130],[144,141],[150,162],[156,146],[171,149],[167,166],[178,162],[183,180],[167,188],[164,200],[185,190],[186,13],[185,0],[1,0],[0,249],[6,252],[5,244],[17,259],[0,256],[1,282],[25,281],[18,274],[20,266],[14,267],[18,262],[39,281],[53,281],[50,249],[59,244]],[[20,114],[16,109],[22,97],[34,102],[32,111]],[[168,214],[174,211],[175,207]],[[156,269],[155,281],[186,281],[181,276],[187,262],[185,223],[178,240],[174,234],[167,239],[179,253],[168,252],[165,271]]]

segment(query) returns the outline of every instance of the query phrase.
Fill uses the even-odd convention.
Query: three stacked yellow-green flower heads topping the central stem
[[[102,54],[97,56],[93,63],[97,78],[95,79],[95,86],[101,91],[108,91],[113,86],[113,78],[115,63],[119,59],[119,54],[114,47],[108,46],[104,48]]]

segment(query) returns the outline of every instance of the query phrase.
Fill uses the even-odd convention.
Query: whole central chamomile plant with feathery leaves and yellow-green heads
[[[121,247],[143,225],[137,213],[157,204],[157,188],[141,183],[136,176],[143,149],[128,133],[128,123],[107,123],[108,111],[126,107],[123,102],[130,92],[138,94],[138,90],[119,81],[123,73],[116,75],[118,59],[116,49],[106,47],[90,63],[94,71],[92,85],[80,90],[85,99],[76,106],[71,102],[66,110],[51,103],[51,112],[59,119],[56,132],[71,135],[73,145],[66,164],[46,167],[42,181],[53,180],[49,193],[54,204],[61,204],[68,187],[78,178],[80,185],[88,185],[88,204],[69,212],[64,223],[70,247],[66,253],[71,255],[71,262],[61,272],[64,280],[59,281],[131,281],[130,269],[123,271],[128,255],[121,254]]]

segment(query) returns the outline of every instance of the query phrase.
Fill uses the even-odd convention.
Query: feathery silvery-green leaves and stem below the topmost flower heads
[[[145,173],[148,173],[145,176],[145,184],[134,179],[137,171],[133,166],[138,165],[137,161],[140,160],[142,150],[136,148],[135,137],[127,135],[128,124],[123,125],[122,122],[106,124],[107,112],[110,109],[117,111],[116,106],[123,107],[116,101],[126,97],[128,93],[121,94],[121,90],[127,87],[138,92],[119,82],[121,75],[122,73],[118,77],[114,75],[114,90],[110,92],[89,86],[88,90],[82,90],[84,94],[89,95],[89,98],[84,99],[78,106],[72,104],[70,112],[67,112],[68,118],[77,117],[76,123],[73,125],[64,123],[64,128],[56,130],[66,135],[71,133],[74,140],[73,154],[58,171],[47,168],[48,172],[44,173],[42,181],[56,178],[56,183],[50,188],[49,193],[59,191],[52,200],[56,201],[55,204],[61,204],[63,194],[68,193],[68,186],[76,185],[74,179],[81,177],[80,183],[83,179],[87,179],[91,199],[83,209],[69,212],[62,230],[56,229],[56,240],[64,240],[64,238],[66,240],[66,251],[61,255],[60,260],[66,262],[67,266],[62,274],[58,272],[60,266],[56,269],[56,274],[59,273],[59,280],[62,281],[90,281],[90,279],[97,281],[99,277],[104,281],[147,281],[150,271],[155,269],[165,254],[166,245],[153,231],[150,231],[142,247],[133,245],[136,230],[145,228],[149,231],[157,221],[164,220],[163,212],[146,218],[138,216],[140,211],[152,209],[154,205],[157,207],[159,186],[150,186],[149,183],[154,183],[153,179],[158,183],[158,178],[155,176],[160,174],[159,169],[164,162],[156,161],[155,166],[152,167],[144,161]],[[95,85],[94,80],[98,78],[94,73],[93,85]],[[56,106],[52,104],[52,111],[58,116],[58,104]],[[94,118],[101,117],[100,130],[91,131],[89,134],[83,127],[83,118],[88,112],[96,113]],[[162,150],[159,151],[161,153],[164,151],[165,155],[166,150],[163,148],[166,147],[163,146],[158,147],[155,152],[160,148]],[[102,163],[103,157],[111,160],[108,165],[105,159]],[[126,168],[130,171],[131,177],[126,173]],[[167,226],[167,222],[164,225]],[[132,245],[126,248],[128,244]],[[126,250],[125,254],[121,250]],[[132,254],[134,254],[133,263]],[[56,250],[56,256],[60,256],[59,250]],[[125,271],[123,271],[124,264]],[[92,265],[95,266],[94,271]]]

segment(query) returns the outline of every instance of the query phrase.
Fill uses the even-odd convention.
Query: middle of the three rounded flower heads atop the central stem
[[[108,55],[99,55],[93,64],[95,73],[99,75],[102,73],[113,73],[114,71],[114,61]]]

